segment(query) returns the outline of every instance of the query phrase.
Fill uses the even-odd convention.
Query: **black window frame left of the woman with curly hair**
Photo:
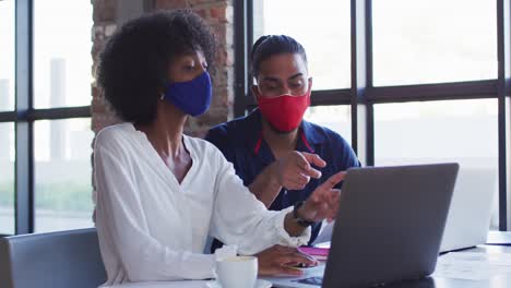
[[[91,106],[34,108],[34,3],[14,1],[15,105],[14,110],[0,111],[0,123],[14,123],[14,235],[22,235],[35,229],[34,122],[91,118],[92,112]]]

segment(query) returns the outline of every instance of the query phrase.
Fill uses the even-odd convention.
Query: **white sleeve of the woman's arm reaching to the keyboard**
[[[105,147],[94,152],[98,233],[114,243],[130,281],[214,277],[213,255],[171,250],[148,233],[140,193],[126,159]]]

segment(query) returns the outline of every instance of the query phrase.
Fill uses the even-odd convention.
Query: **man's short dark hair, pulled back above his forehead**
[[[261,36],[252,46],[252,75],[259,76],[261,62],[275,55],[298,53],[307,64],[304,46],[293,37],[286,35]]]

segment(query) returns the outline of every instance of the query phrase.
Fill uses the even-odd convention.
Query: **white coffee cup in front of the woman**
[[[254,256],[217,259],[216,275],[222,288],[251,288],[258,279],[258,259]]]

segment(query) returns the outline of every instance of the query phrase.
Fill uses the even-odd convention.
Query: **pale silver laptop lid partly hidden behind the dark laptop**
[[[495,170],[460,169],[440,252],[472,248],[486,242],[497,192],[496,183]]]

